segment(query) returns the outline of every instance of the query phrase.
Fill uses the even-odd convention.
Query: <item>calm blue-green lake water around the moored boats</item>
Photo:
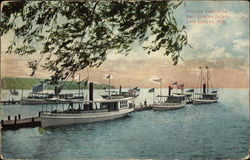
[[[103,91],[96,91],[98,97]],[[167,92],[166,92],[167,93]],[[134,112],[114,121],[2,131],[5,158],[242,158],[249,147],[248,90],[219,90],[219,103]],[[141,89],[136,103],[153,95]],[[41,106],[2,106],[1,118]]]

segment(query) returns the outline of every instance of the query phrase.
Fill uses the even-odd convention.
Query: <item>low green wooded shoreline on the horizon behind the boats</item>
[[[2,89],[32,89],[34,85],[37,85],[41,82],[44,82],[45,79],[34,79],[34,78],[12,78],[6,77],[2,79]],[[76,81],[66,81],[59,82],[59,84],[63,84],[62,89],[79,89],[79,82]],[[94,83],[94,89],[103,89],[108,88],[108,84],[96,84]],[[45,85],[45,89],[54,90],[54,85]],[[111,86],[110,88],[115,88]],[[84,86],[81,83],[81,89],[87,89],[87,86]]]

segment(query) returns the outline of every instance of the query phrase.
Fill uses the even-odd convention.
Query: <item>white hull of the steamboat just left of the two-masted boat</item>
[[[185,107],[186,103],[163,103],[163,104],[156,104],[153,105],[154,111],[168,111],[168,110],[175,110],[175,109],[181,109]]]

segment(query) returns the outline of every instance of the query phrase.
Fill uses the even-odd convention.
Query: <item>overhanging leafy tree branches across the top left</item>
[[[28,63],[50,71],[50,83],[67,80],[86,67],[99,67],[110,51],[129,54],[133,44],[154,38],[144,47],[150,54],[160,49],[178,63],[187,45],[185,26],[177,27],[173,11],[181,3],[170,1],[20,1],[4,2],[1,36],[15,39],[7,53],[40,54]],[[20,43],[21,42],[21,43]],[[41,60],[45,61],[40,64]]]

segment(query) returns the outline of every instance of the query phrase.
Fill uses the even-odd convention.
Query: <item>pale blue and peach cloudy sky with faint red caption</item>
[[[171,57],[162,51],[147,55],[141,46],[134,46],[128,56],[108,55],[99,68],[89,68],[89,80],[123,87],[163,87],[173,82],[186,88],[197,86],[199,66],[209,66],[215,88],[249,88],[249,3],[246,1],[184,1],[174,11],[179,26],[187,27],[188,42],[181,51],[183,60],[173,66]],[[27,62],[33,56],[3,54],[13,35],[1,37],[2,77],[29,77]],[[147,45],[145,42],[144,45]],[[80,77],[86,78],[87,70]],[[78,75],[78,74],[77,74]],[[39,70],[36,78],[47,78],[49,73]],[[77,76],[76,76],[77,77]],[[77,77],[78,79],[78,77]]]

